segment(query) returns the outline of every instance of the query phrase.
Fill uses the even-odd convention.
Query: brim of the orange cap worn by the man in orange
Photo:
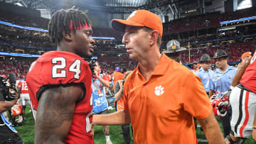
[[[143,26],[142,24],[135,23],[133,21],[127,21],[122,19],[113,19],[111,21],[111,26],[115,31],[125,31],[126,26]]]

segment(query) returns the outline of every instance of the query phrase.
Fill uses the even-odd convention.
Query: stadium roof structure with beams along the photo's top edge
[[[0,0],[31,9],[48,10],[75,8],[94,9],[109,13],[131,13],[136,9],[146,9],[157,14],[172,16],[174,19],[204,13],[203,5],[215,0]],[[225,1],[225,0],[223,0]],[[241,1],[238,0],[238,4]]]

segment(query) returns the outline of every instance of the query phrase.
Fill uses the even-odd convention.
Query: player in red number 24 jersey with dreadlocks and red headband
[[[48,31],[57,50],[44,53],[26,75],[36,113],[35,143],[94,143],[91,57],[95,40],[87,15],[75,9],[53,13]]]

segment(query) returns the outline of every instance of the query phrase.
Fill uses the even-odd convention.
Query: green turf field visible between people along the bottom
[[[19,135],[21,135],[21,138],[23,139],[25,144],[33,144],[34,121],[31,113],[28,111],[29,109],[26,109],[26,122],[22,126],[17,126],[16,130],[18,131]],[[114,110],[110,112],[114,112]],[[219,118],[217,118],[217,120],[220,121]],[[222,129],[221,123],[220,123],[220,128]],[[132,132],[131,132],[131,135],[132,135]],[[206,140],[206,137],[203,131],[200,130],[200,128],[196,129],[196,135],[197,135],[197,138]],[[102,131],[102,126],[95,126],[94,139],[95,139],[95,144],[106,143],[105,135],[103,134],[103,131]],[[110,139],[112,140],[113,144],[124,144],[121,126],[110,126]],[[207,142],[199,142],[199,144],[204,144],[204,143],[207,143]],[[245,141],[245,144],[251,144],[251,143],[255,143],[255,141],[252,140],[252,137],[248,138]]]

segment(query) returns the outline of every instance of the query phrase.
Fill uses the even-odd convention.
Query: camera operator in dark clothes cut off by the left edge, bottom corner
[[[2,90],[2,89],[1,89]],[[11,123],[6,121],[4,117],[4,111],[10,109],[11,106],[14,106],[18,100],[18,94],[16,94],[16,99],[11,99],[6,101],[5,96],[2,91],[0,91],[0,144],[23,144],[23,140],[18,135],[17,131],[12,127]]]

